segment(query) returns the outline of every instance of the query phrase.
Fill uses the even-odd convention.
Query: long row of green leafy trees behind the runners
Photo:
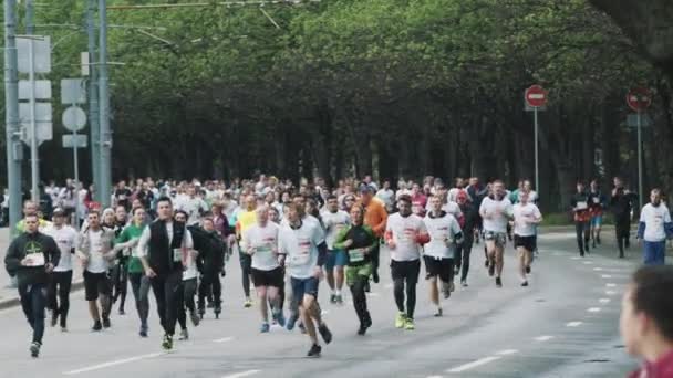
[[[39,9],[38,23],[82,23],[82,3]],[[110,32],[111,60],[125,63],[111,73],[115,178],[261,170],[514,185],[534,175],[522,92],[540,83],[550,91],[540,113],[547,207],[565,207],[579,178],[621,175],[635,187],[635,138],[623,126],[634,85],[655,90],[646,183],[673,188],[671,77],[584,0],[323,0],[108,17],[165,28],[151,31],[164,41]],[[61,44],[52,80],[77,75],[69,64],[83,50],[85,34]],[[44,178],[72,169],[58,140],[41,148]]]

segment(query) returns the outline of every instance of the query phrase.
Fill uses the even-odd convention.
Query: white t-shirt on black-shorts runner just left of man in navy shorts
[[[255,249],[252,267],[260,271],[271,271],[278,264],[278,224],[269,221],[265,227],[256,223],[244,232],[245,244]],[[248,251],[244,251],[248,252]]]

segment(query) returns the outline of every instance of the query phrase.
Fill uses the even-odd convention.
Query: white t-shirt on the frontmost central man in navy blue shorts
[[[282,225],[278,234],[278,249],[287,254],[286,266],[288,273],[294,279],[309,279],[318,266],[318,245],[324,241],[319,224],[307,221],[293,230],[290,225]]]

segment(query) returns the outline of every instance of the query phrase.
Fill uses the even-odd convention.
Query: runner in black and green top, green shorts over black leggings
[[[351,225],[342,228],[334,238],[333,248],[348,252],[346,284],[353,295],[353,307],[360,319],[358,335],[364,336],[372,326],[367,311],[365,286],[372,275],[371,252],[379,248],[379,238],[364,224],[364,209],[361,204],[351,208]]]

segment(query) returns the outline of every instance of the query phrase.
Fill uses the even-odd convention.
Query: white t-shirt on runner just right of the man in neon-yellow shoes
[[[455,237],[460,233],[460,224],[454,216],[445,213],[441,218],[431,218],[428,213],[423,219],[429,242],[424,245],[424,254],[433,258],[453,259]]]

